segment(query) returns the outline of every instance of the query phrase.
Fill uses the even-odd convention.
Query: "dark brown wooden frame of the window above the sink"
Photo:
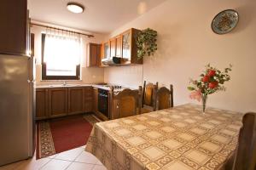
[[[44,63],[44,43],[45,43],[45,33],[42,33],[42,80],[80,80],[80,65],[76,66],[76,76],[47,76],[46,68],[47,65]]]

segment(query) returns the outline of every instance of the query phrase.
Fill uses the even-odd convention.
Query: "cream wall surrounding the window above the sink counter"
[[[35,34],[35,58],[36,58],[36,84],[58,84],[58,81],[42,81],[42,65],[41,65],[41,34],[45,31],[44,27],[40,26],[32,26],[32,33]],[[101,43],[104,38],[103,35],[94,34],[95,37],[84,37],[83,45],[84,45],[84,54],[81,59],[81,81],[67,81],[68,83],[97,83],[104,82],[104,69],[102,68],[93,68],[86,67],[86,50],[88,42],[96,42]],[[61,82],[62,83],[62,82]]]

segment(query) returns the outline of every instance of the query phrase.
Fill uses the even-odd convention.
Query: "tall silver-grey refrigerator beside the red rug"
[[[0,166],[35,151],[34,58],[0,54]]]

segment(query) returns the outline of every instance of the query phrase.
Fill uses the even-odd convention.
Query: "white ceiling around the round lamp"
[[[67,10],[69,0],[28,0],[32,20],[84,31],[109,33],[166,0],[71,0],[85,7],[82,14]]]

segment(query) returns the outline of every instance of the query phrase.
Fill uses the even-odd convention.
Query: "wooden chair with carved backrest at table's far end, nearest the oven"
[[[113,119],[141,114],[141,86],[138,90],[126,88],[118,94],[113,94],[113,89],[111,91]]]

